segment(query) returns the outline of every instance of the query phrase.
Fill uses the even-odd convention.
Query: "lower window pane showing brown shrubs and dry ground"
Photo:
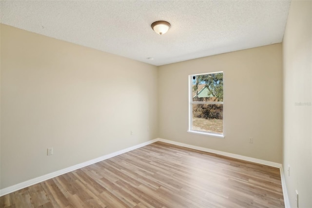
[[[192,130],[223,133],[223,104],[193,104]]]

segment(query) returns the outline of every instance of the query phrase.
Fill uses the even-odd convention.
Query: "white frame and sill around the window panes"
[[[217,74],[217,73],[223,73],[224,75],[223,71],[189,75],[189,130],[187,131],[189,133],[224,138],[224,122],[223,122],[224,120],[222,121],[223,122],[222,134],[210,133],[210,132],[198,131],[198,130],[192,129],[193,127],[193,104],[222,104],[222,105],[224,104],[224,102],[193,101],[193,93],[192,93],[193,92],[193,76],[205,75],[205,74]],[[223,76],[223,83],[224,83],[224,76]],[[224,89],[223,89],[223,92],[224,92]],[[223,97],[223,100],[224,100],[224,97]],[[223,112],[224,112],[224,108],[223,108]]]

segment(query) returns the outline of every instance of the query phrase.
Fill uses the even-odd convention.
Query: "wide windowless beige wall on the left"
[[[0,188],[155,138],[156,66],[1,25]]]

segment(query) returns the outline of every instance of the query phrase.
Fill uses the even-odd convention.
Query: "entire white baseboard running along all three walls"
[[[284,195],[284,203],[285,203],[285,208],[290,208],[290,204],[289,204],[289,199],[288,199],[288,195],[287,195],[287,189],[286,189],[286,183],[285,183],[285,177],[284,177],[284,172],[283,172],[283,167],[281,164],[279,163],[274,163],[274,162],[270,162],[270,161],[266,161],[266,160],[260,160],[260,159],[256,159],[256,158],[252,158],[252,157],[246,157],[246,156],[242,156],[242,155],[237,155],[237,154],[233,154],[233,153],[228,153],[228,152],[223,152],[223,151],[218,151],[218,150],[214,150],[214,149],[209,149],[209,148],[205,148],[205,147],[201,147],[201,146],[193,146],[193,145],[188,145],[188,144],[184,144],[184,143],[179,143],[179,142],[174,142],[171,140],[166,140],[166,139],[161,139],[161,138],[157,138],[154,140],[150,140],[148,142],[144,142],[142,144],[136,145],[136,146],[131,146],[129,148],[126,149],[122,149],[119,150],[117,152],[113,152],[111,154],[107,154],[104,155],[102,157],[98,157],[96,159],[93,160],[89,160],[87,162],[84,163],[80,163],[78,165],[75,166],[70,166],[52,173],[48,173],[46,175],[43,176],[39,176],[37,178],[13,185],[11,187],[6,187],[3,189],[0,189],[0,196],[12,193],[14,191],[20,190],[22,188],[25,187],[29,187],[35,184],[38,184],[40,182],[49,180],[51,178],[57,177],[59,175],[77,170],[79,168],[85,167],[85,166],[90,166],[92,164],[98,163],[100,161],[106,160],[108,158],[120,155],[122,153],[125,152],[129,152],[131,150],[137,149],[139,147],[142,146],[146,146],[155,142],[164,142],[164,143],[168,143],[168,144],[172,144],[172,145],[177,145],[177,146],[183,146],[183,147],[188,147],[191,149],[196,149],[196,150],[200,150],[200,151],[204,151],[204,152],[210,152],[210,153],[214,153],[214,154],[218,154],[218,155],[223,155],[223,156],[227,156],[227,157],[231,157],[231,158],[235,158],[235,159],[240,159],[240,160],[244,160],[244,161],[249,161],[249,162],[254,162],[254,163],[258,163],[258,164],[262,164],[262,165],[266,165],[266,166],[272,166],[272,167],[277,167],[280,169],[280,173],[281,173],[281,182],[282,182],[282,189],[283,189],[283,195]]]

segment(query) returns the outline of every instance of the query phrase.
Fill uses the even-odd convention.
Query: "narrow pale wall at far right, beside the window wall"
[[[284,172],[291,207],[312,207],[312,1],[292,1],[284,40]],[[301,105],[300,105],[301,103]],[[290,176],[288,176],[290,165]]]

